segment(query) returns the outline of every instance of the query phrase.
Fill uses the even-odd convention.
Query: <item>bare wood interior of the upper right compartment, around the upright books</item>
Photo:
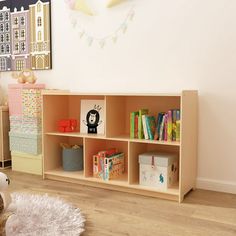
[[[106,96],[107,137],[130,137],[130,113],[148,109],[149,115],[180,109],[181,96]]]

